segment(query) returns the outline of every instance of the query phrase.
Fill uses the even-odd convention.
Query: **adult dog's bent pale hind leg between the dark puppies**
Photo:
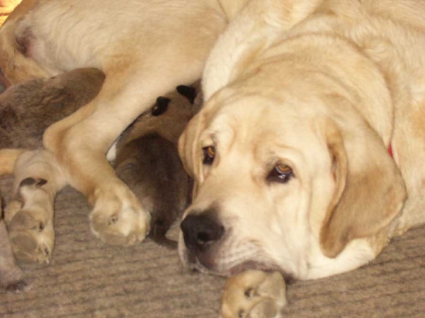
[[[133,245],[143,240],[150,216],[115,176],[105,158],[108,148],[158,95],[181,81],[194,81],[200,73],[197,70],[195,78],[174,78],[160,69],[134,73],[137,69],[137,65],[132,65],[128,71],[106,71],[106,82],[98,97],[51,126],[44,136],[45,146],[55,153],[69,183],[94,206],[90,216],[92,231],[111,245]]]

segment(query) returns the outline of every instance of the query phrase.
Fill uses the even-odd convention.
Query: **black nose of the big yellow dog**
[[[184,244],[195,252],[205,252],[225,232],[215,216],[208,213],[189,214],[180,225]]]

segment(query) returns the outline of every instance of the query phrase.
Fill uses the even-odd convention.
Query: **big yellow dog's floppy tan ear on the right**
[[[385,228],[401,211],[406,189],[387,147],[365,122],[356,123],[356,131],[328,125],[327,145],[336,189],[320,245],[324,255],[336,257],[351,240]]]

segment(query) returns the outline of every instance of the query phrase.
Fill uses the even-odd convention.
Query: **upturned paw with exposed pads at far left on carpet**
[[[53,199],[47,194],[44,179],[23,179],[18,187],[19,200],[5,209],[13,254],[23,262],[48,263],[55,245]]]

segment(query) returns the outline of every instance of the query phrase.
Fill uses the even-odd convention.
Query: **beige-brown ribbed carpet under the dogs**
[[[10,186],[0,180],[4,194]],[[149,241],[103,245],[89,232],[88,211],[72,189],[57,197],[52,261],[23,266],[30,290],[0,293],[0,317],[218,317],[222,278],[189,273],[177,252]],[[288,302],[284,317],[425,317],[425,228],[362,269],[289,285]]]

